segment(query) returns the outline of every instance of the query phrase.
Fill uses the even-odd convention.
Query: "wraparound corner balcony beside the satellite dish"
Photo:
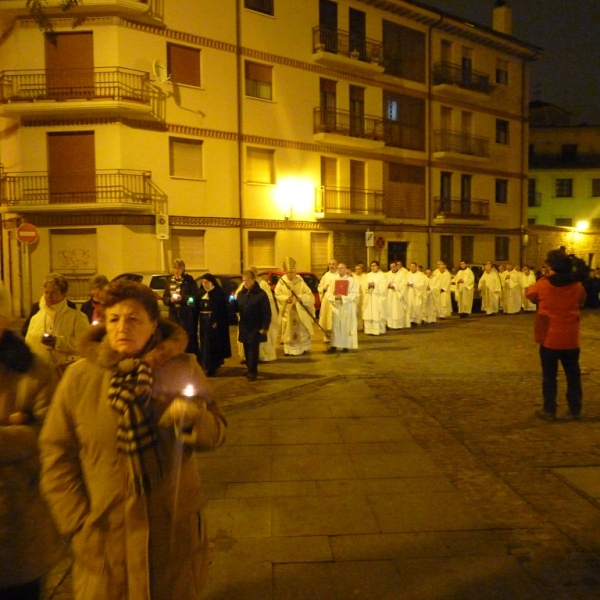
[[[2,0],[0,0],[2,2]],[[164,121],[165,96],[148,73],[122,67],[0,72],[0,116],[125,116]]]

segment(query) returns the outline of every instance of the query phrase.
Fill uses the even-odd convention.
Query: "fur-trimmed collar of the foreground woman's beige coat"
[[[138,358],[147,362],[150,367],[157,367],[173,356],[182,354],[188,343],[187,333],[183,328],[169,319],[159,319],[158,327],[148,348]],[[92,325],[78,340],[80,356],[105,369],[114,369],[125,356],[115,352],[109,345],[104,325]]]

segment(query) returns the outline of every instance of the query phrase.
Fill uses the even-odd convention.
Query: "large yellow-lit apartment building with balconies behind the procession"
[[[505,2],[484,27],[402,0],[49,0],[51,32],[24,4],[0,0],[16,312],[50,271],[77,296],[176,257],[519,261],[539,51]]]

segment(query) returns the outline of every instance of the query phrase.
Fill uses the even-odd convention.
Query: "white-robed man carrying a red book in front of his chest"
[[[338,265],[338,278],[329,286],[325,301],[331,307],[331,347],[328,353],[348,352],[358,348],[357,304],[358,283],[344,263]]]

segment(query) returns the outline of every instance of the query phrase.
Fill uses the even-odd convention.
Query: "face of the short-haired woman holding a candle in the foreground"
[[[156,321],[133,298],[106,309],[106,333],[110,347],[127,357],[137,356],[156,330]]]

